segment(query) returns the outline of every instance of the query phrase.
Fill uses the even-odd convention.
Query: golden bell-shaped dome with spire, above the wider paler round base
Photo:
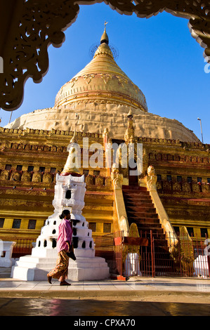
[[[62,86],[55,98],[57,107],[73,102],[114,103],[147,112],[145,95],[114,61],[106,30],[93,60]]]

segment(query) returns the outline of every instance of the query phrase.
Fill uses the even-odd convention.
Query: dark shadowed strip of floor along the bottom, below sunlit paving
[[[209,316],[210,304],[95,299],[0,298],[1,316]]]

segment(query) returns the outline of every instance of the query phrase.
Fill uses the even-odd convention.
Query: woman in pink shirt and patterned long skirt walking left
[[[55,268],[48,273],[47,278],[50,284],[52,284],[51,279],[54,278],[60,281],[60,285],[71,285],[65,281],[68,275],[68,265],[70,259],[69,256],[67,256],[67,252],[70,251],[73,232],[70,211],[64,210],[60,215],[60,219],[63,220],[58,227],[58,259]]]

